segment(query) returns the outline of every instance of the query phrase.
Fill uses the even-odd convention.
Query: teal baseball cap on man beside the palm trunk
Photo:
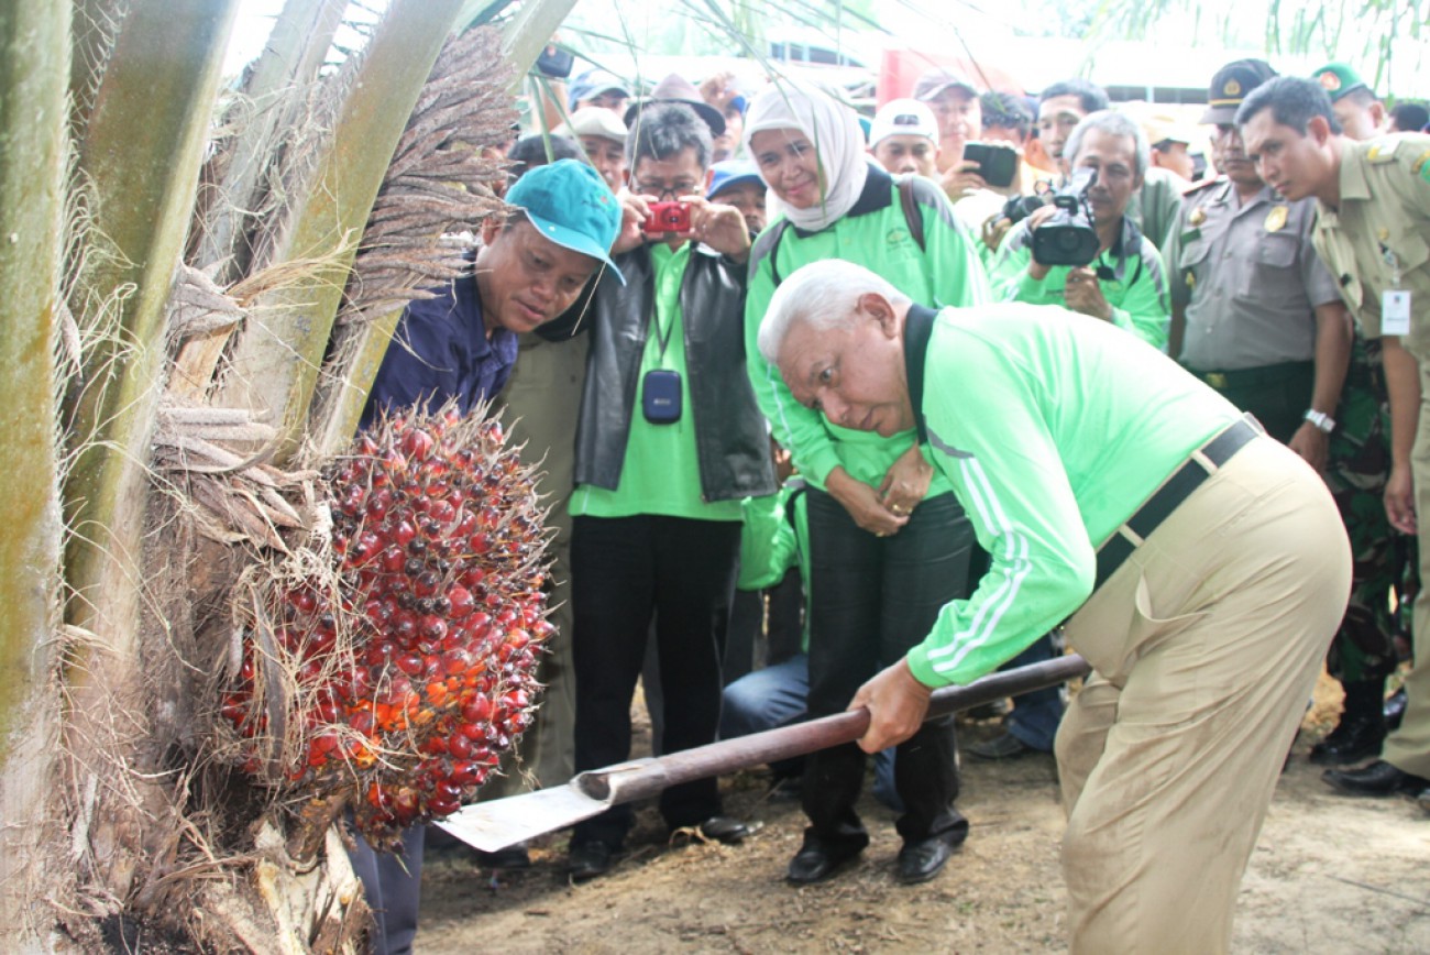
[[[593,167],[575,159],[538,166],[506,190],[506,204],[525,212],[536,232],[558,246],[611,266],[625,284],[611,260],[621,234],[621,203]]]

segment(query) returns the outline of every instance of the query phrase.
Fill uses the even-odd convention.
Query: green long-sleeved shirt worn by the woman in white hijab
[[[764,360],[756,345],[759,322],[775,293],[776,270],[785,277],[811,262],[844,259],[882,276],[919,305],[944,307],[988,300],[988,282],[978,263],[977,243],[958,226],[942,192],[932,183],[922,183],[934,204],[925,204],[922,199],[918,203],[924,222],[921,250],[908,232],[898,186],[887,176],[882,182],[888,183],[888,204],[864,214],[851,210],[815,233],[798,233],[792,226],[775,220],[761,233],[751,254],[749,292],[745,299],[749,380],[755,387],[759,410],[769,419],[775,440],[789,449],[805,480],[821,490],[829,472],[838,466],[851,478],[878,488],[894,462],[914,445],[915,435],[905,432],[881,437],[874,432],[839,427],[829,423],[821,412],[794,399],[779,377],[779,369]],[[772,263],[768,246],[776,229],[782,229],[784,234],[775,247]],[[935,472],[927,496],[947,490],[948,482]]]

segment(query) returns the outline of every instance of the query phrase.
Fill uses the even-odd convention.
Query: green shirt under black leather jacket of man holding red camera
[[[695,520],[739,520],[739,500],[701,499],[701,465],[695,450],[695,413],[691,407],[691,379],[685,373],[685,329],[681,320],[681,284],[691,262],[692,244],[671,250],[666,243],[651,246],[655,267],[655,315],[641,357],[641,380],[631,415],[621,483],[615,490],[579,485],[571,496],[572,516],[632,518],[661,515]],[[669,335],[666,345],[661,339]],[[652,425],[642,413],[645,376],[668,369],[681,376],[681,419]]]

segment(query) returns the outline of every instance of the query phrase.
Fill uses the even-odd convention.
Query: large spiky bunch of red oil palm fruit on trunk
[[[323,475],[332,568],[295,555],[239,602],[223,715],[245,768],[323,815],[352,803],[376,846],[470,798],[539,691],[543,515],[483,415],[389,417],[360,436]]]

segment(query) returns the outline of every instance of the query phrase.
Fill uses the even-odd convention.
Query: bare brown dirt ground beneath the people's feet
[[[1430,952],[1430,818],[1409,799],[1334,795],[1306,752],[1334,722],[1317,691],[1241,884],[1237,952]],[[962,739],[997,732],[962,728]],[[799,806],[768,776],[722,781],[731,815],[764,826],[741,846],[668,845],[645,808],[605,878],[568,885],[565,835],[531,869],[493,876],[463,846],[429,848],[418,952],[1040,952],[1065,946],[1062,811],[1051,756],[964,762],[968,842],[925,885],[892,881],[891,813],[865,795],[872,845],[831,882],[791,888]]]

